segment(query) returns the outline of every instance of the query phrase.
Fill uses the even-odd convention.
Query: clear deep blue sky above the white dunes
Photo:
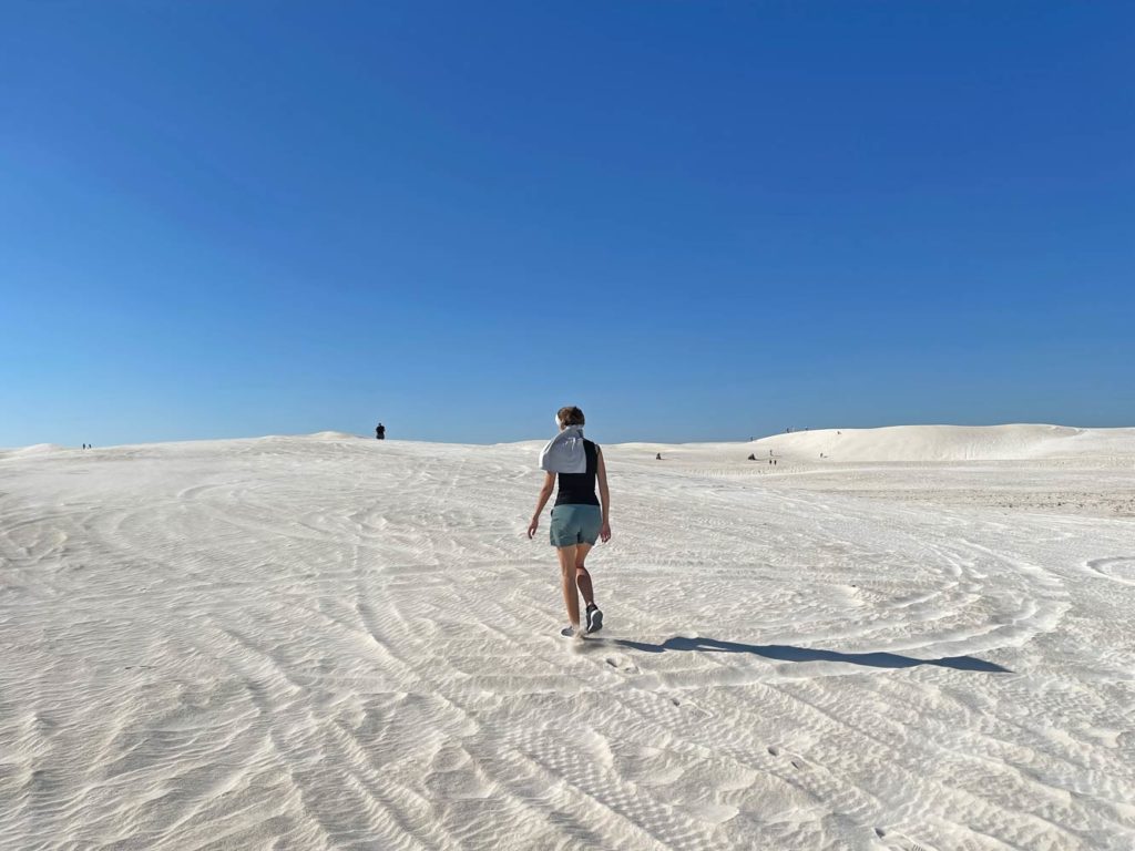
[[[1135,424],[1129,2],[2,2],[0,446]]]

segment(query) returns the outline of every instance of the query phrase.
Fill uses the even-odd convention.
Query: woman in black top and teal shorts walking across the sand
[[[569,625],[562,635],[581,635],[603,629],[603,612],[595,604],[591,574],[585,566],[587,554],[596,539],[604,544],[611,540],[611,491],[607,489],[607,467],[603,450],[597,444],[583,437],[583,412],[575,406],[556,412],[556,428],[560,433],[540,450],[540,469],[545,471],[544,487],[536,502],[536,512],[528,524],[528,537],[536,536],[540,525],[540,514],[560,478],[560,492],[552,507],[549,538],[560,558],[560,579],[568,609]],[[599,485],[602,507],[595,496]],[[587,621],[580,624],[579,596],[587,604]]]

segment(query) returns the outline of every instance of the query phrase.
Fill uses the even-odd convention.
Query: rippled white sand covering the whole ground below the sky
[[[538,441],[8,453],[0,844],[1135,846],[1135,430],[840,431],[606,447],[582,642]]]

